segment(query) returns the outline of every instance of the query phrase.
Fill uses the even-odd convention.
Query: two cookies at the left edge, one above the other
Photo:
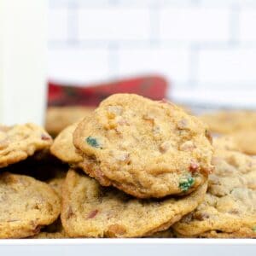
[[[38,125],[0,126],[0,238],[34,236],[60,215],[61,198],[55,189],[15,174],[15,167],[10,167],[36,154],[40,159],[51,144],[51,137]],[[32,176],[33,170],[26,171]]]

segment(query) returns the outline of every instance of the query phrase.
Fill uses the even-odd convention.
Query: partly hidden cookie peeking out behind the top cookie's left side
[[[71,166],[83,166],[83,158],[76,152],[73,145],[73,132],[78,123],[69,125],[55,137],[54,143],[50,147],[50,153],[54,154],[59,160],[68,163]]]

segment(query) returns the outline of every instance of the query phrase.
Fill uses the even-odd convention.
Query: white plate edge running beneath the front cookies
[[[1,240],[4,256],[255,256],[251,239],[21,239]]]

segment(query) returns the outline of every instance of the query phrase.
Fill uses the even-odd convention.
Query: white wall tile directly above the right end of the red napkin
[[[140,73],[158,73],[172,81],[188,83],[189,54],[186,48],[167,47],[121,48],[119,55],[119,76]]]

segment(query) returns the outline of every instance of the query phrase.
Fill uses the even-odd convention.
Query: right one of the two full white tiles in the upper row
[[[181,43],[227,42],[228,9],[190,7],[160,10],[160,40]]]

